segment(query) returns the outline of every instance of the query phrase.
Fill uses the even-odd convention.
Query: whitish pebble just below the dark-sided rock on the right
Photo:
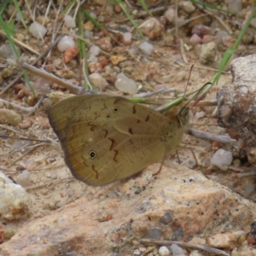
[[[227,171],[227,166],[231,164],[232,160],[232,153],[220,148],[215,152],[215,154],[212,155],[211,164],[218,166],[218,168],[223,171]]]

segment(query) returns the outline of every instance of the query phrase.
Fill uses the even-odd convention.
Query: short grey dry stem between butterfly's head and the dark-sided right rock
[[[207,139],[207,140],[218,142],[218,143],[236,144],[235,139],[232,139],[229,136],[225,136],[225,135],[219,135],[219,134],[214,134],[207,131],[199,131],[199,130],[190,129],[190,128],[185,132],[189,135],[192,135],[194,137],[198,137],[201,139]]]

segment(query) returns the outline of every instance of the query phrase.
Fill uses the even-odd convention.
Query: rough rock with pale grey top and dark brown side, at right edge
[[[251,164],[256,163],[256,55],[231,62],[232,84],[217,94],[218,124],[239,141]]]

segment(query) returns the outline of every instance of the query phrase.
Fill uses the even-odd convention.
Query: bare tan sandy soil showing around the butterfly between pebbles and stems
[[[41,3],[41,13],[44,13],[44,11],[46,13],[47,3],[48,2],[46,1],[43,1]],[[88,5],[85,5],[84,7],[89,8]],[[26,9],[26,6],[23,6],[22,8],[23,10],[28,11],[28,9]],[[97,15],[99,15],[102,11],[102,17],[105,17],[105,19],[109,22],[109,17],[108,15],[104,15],[105,13],[103,11],[102,6],[95,4],[91,6],[90,9],[93,9]],[[182,14],[183,12],[181,13],[181,15]],[[160,16],[162,15],[163,11],[160,13],[156,13],[154,17],[160,19]],[[7,20],[9,18],[9,14],[3,15],[3,17]],[[49,15],[48,18],[51,21],[53,20],[52,15]],[[119,20],[124,19],[125,15],[116,10],[112,17],[112,22],[116,21],[116,23],[119,24]],[[109,25],[106,20],[105,23]],[[26,22],[29,24],[30,21],[26,20]],[[140,20],[140,22],[143,22],[143,20]],[[198,22],[202,21],[198,20]],[[129,21],[125,21],[122,23],[122,26],[131,27],[131,23]],[[166,26],[170,25],[166,23]],[[189,34],[189,30],[190,28],[188,28],[187,26],[180,28],[178,38],[173,39],[173,44],[171,46],[162,44],[162,40],[160,38],[150,40],[150,44],[154,45],[154,54],[148,57],[148,62],[144,61],[145,57],[143,55],[137,55],[137,58],[131,58],[129,60],[129,63],[127,62],[127,65],[129,64],[131,67],[136,67],[138,73],[143,73],[146,71],[152,74],[154,73],[155,70],[156,75],[151,77],[150,75],[148,75],[148,77],[139,81],[139,83],[143,85],[143,89],[141,91],[157,90],[161,87],[161,79],[165,76],[169,76],[171,78],[166,83],[168,88],[176,88],[178,91],[185,90],[186,84],[188,83],[189,79],[189,70],[192,64],[194,65],[194,67],[189,79],[189,86],[187,88],[187,92],[200,89],[203,84],[206,84],[208,81],[210,81],[214,74],[218,72],[218,70],[214,68],[216,67],[216,61],[214,63],[212,61],[207,65],[202,65],[200,58],[197,55],[195,55],[193,47],[191,47],[189,51],[185,51],[185,55],[188,62],[184,63],[183,57],[181,55],[181,49],[179,47],[179,44],[177,44],[175,40],[183,38],[183,42],[187,44],[189,42],[189,38],[191,37],[191,34]],[[67,31],[67,28],[62,29],[62,32]],[[104,37],[103,34],[99,32],[96,28],[94,28],[93,32],[99,38]],[[31,38],[20,23],[19,26],[16,27],[15,33],[19,33],[27,38],[30,38],[30,42],[28,42],[27,39],[25,42],[26,44],[29,44],[30,46],[34,47],[34,49],[40,49],[40,47],[42,46],[42,41]],[[113,33],[113,35],[116,35],[116,33]],[[132,44],[137,45],[140,40],[137,37],[136,32],[133,32],[133,37],[134,39]],[[49,35],[47,35],[46,38],[44,38],[43,45],[48,45],[49,42],[51,42],[50,38],[51,36],[49,33]],[[232,35],[231,38],[236,37]],[[8,43],[8,41],[6,41],[6,43]],[[245,48],[246,47],[247,45],[245,46]],[[114,49],[116,48],[113,47],[113,50]],[[218,61],[223,55],[225,49],[226,48],[222,50],[218,49],[218,55],[216,57]],[[30,57],[34,59],[36,56],[22,47],[20,47],[20,51],[24,59]],[[116,55],[116,53],[113,54],[113,51],[108,52],[108,54]],[[62,61],[62,54],[54,48],[50,56],[46,59],[46,64],[52,64],[53,60],[57,59]],[[143,65],[142,61],[144,61]],[[41,64],[43,62],[43,60],[38,61],[38,67],[42,67]],[[80,68],[79,57],[74,58],[73,62],[75,63],[75,67],[71,68],[70,64],[67,65],[67,67],[73,70],[73,73],[77,74],[79,73]],[[6,59],[2,60],[2,65],[2,67],[0,66],[0,71],[3,71],[3,67],[7,67]],[[60,70],[64,69],[65,64],[61,62]],[[180,75],[183,73],[183,78],[180,79]],[[81,79],[80,74],[81,73],[79,73],[79,76],[73,77],[73,81],[75,81],[78,84],[79,79]],[[15,79],[17,75],[18,70],[15,69],[13,71],[12,76],[9,76],[8,78],[3,80],[1,89],[3,90],[3,88],[5,88],[11,80]],[[33,73],[29,73],[29,78],[34,83],[38,81],[38,76],[34,75]],[[154,79],[154,84],[151,83],[151,79]],[[212,89],[207,94],[205,100],[210,99],[214,101],[216,98],[216,92],[218,91],[218,88],[224,84],[230,84],[231,79],[232,78],[229,71],[223,73],[218,81],[218,84],[212,87]],[[23,87],[23,85],[25,84],[24,79],[20,79],[19,81],[17,81],[15,83],[15,86],[10,87],[9,90],[7,90],[3,95],[1,95],[1,98],[7,102],[12,102],[26,108],[34,105],[35,102],[30,102],[30,97],[32,98],[32,100],[38,100],[38,97],[33,98],[31,93],[26,92],[24,92],[24,96],[20,96],[21,93],[19,93],[19,84],[22,84],[21,87]],[[49,82],[49,90],[44,96],[47,97],[50,92],[53,92],[55,90],[62,91],[66,94],[68,93],[68,90],[61,88],[60,85],[55,84],[53,82]],[[120,92],[116,92],[114,90],[113,84],[109,84],[106,90],[107,92],[111,91],[112,93],[115,92],[116,94],[120,94]],[[161,97],[162,95],[163,94],[159,94],[158,96]],[[175,97],[173,93],[164,94],[163,96],[165,96],[166,98]],[[8,108],[6,104],[4,104],[3,107]],[[193,128],[195,127],[195,129],[202,131],[210,131],[212,133],[224,134],[224,129],[218,127],[216,118],[214,117],[214,115],[212,116],[212,113],[215,108],[216,107],[214,106],[209,106],[205,108],[195,107],[193,109],[193,113],[190,113],[189,126],[193,125]],[[22,116],[23,120],[20,124],[22,124],[23,126],[19,124],[15,127],[10,127],[8,125],[4,125],[1,127],[1,135],[9,137],[1,139],[0,166],[2,171],[16,182],[18,182],[19,180],[20,172],[27,170],[31,173],[30,182],[28,182],[28,184],[24,186],[31,199],[29,213],[26,215],[26,217],[17,220],[7,221],[2,219],[2,222],[4,224],[11,225],[12,229],[16,230],[19,229],[20,226],[23,226],[26,223],[32,221],[32,219],[41,218],[45,215],[48,215],[52,211],[55,211],[57,208],[62,207],[72,201],[75,201],[81,196],[86,195],[93,198],[93,196],[98,191],[100,191],[101,188],[89,187],[86,184],[81,183],[72,177],[71,173],[69,172],[67,166],[64,163],[63,152],[61,150],[61,147],[59,143],[55,141],[56,136],[52,131],[51,127],[49,126],[49,120],[47,117],[48,110],[47,108],[45,108],[44,105],[40,105],[39,108],[37,108],[37,110],[35,111],[35,113],[32,113],[32,115],[27,115],[26,112],[23,112],[19,108],[14,109],[16,113],[19,113]],[[202,117],[201,119],[196,119],[194,113],[201,111],[204,111],[204,117]],[[38,140],[43,140],[44,142],[26,141],[28,143],[23,147],[21,142],[24,143],[24,141],[17,140],[16,137],[27,137],[31,139],[36,138]],[[193,154],[191,154],[191,151],[187,149],[180,149],[178,151],[179,160],[177,159],[176,155],[168,157],[168,159],[166,160],[166,165],[168,165],[170,160],[174,160],[177,162],[180,161],[182,165],[188,166],[189,168],[198,169],[200,172],[206,173],[208,177],[214,178],[218,181],[221,180],[221,182],[224,183],[225,185],[231,185],[230,172],[219,172],[219,170],[217,169],[215,171],[209,169],[209,161],[214,152],[214,148],[212,149],[212,147],[214,146],[212,145],[212,142],[184,135],[182,146],[193,148],[196,160],[198,161],[200,166],[195,165],[195,159],[193,157]],[[224,145],[220,145],[218,147],[222,146],[228,147]],[[244,179],[244,183],[247,183],[246,178]],[[234,189],[233,183],[232,186]],[[245,185],[240,183],[239,187],[236,187],[236,189],[241,189],[241,193],[243,193],[243,186]]]

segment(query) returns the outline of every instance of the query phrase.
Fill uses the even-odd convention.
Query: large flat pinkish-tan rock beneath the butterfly
[[[184,166],[163,166],[156,176],[153,169],[105,187],[88,186],[83,198],[17,230],[0,255],[132,255],[131,241],[141,238],[189,241],[250,230],[252,202]]]

